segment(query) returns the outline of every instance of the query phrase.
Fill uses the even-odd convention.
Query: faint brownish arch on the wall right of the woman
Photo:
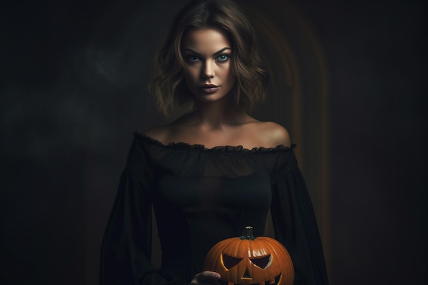
[[[330,84],[315,29],[291,1],[239,1],[258,31],[269,99],[254,110],[291,133],[330,264]]]

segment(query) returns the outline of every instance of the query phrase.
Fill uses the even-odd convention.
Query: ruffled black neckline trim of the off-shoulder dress
[[[162,148],[171,148],[171,149],[189,149],[189,150],[202,150],[204,152],[244,152],[244,153],[266,153],[266,152],[284,152],[293,150],[295,148],[295,144],[291,144],[290,147],[284,146],[282,144],[274,147],[274,148],[265,148],[263,146],[256,147],[256,148],[244,148],[243,146],[215,146],[213,148],[206,148],[202,144],[188,144],[185,142],[172,142],[170,144],[163,144],[161,141],[158,141],[157,139],[154,139],[152,137],[149,137],[148,135],[145,135],[144,133],[139,133],[135,131],[133,133],[134,137],[138,137],[140,139],[143,139],[144,141],[154,144],[157,146],[161,146]]]

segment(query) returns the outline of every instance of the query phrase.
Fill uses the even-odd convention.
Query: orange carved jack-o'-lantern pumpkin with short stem
[[[204,260],[204,270],[222,275],[222,285],[292,285],[294,268],[289,253],[276,239],[254,237],[245,227],[241,237],[220,241]]]

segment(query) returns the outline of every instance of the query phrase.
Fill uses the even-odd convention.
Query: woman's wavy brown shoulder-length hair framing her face
[[[230,0],[192,0],[174,18],[157,53],[155,74],[149,85],[165,116],[194,100],[184,79],[185,62],[180,49],[183,35],[188,29],[209,27],[224,31],[232,44],[232,94],[237,107],[250,111],[254,103],[265,98],[267,72],[256,49],[254,28],[240,8]]]

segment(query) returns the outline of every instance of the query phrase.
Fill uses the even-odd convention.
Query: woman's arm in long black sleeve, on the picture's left
[[[146,150],[134,140],[105,230],[101,285],[182,284],[150,262],[151,169]]]

